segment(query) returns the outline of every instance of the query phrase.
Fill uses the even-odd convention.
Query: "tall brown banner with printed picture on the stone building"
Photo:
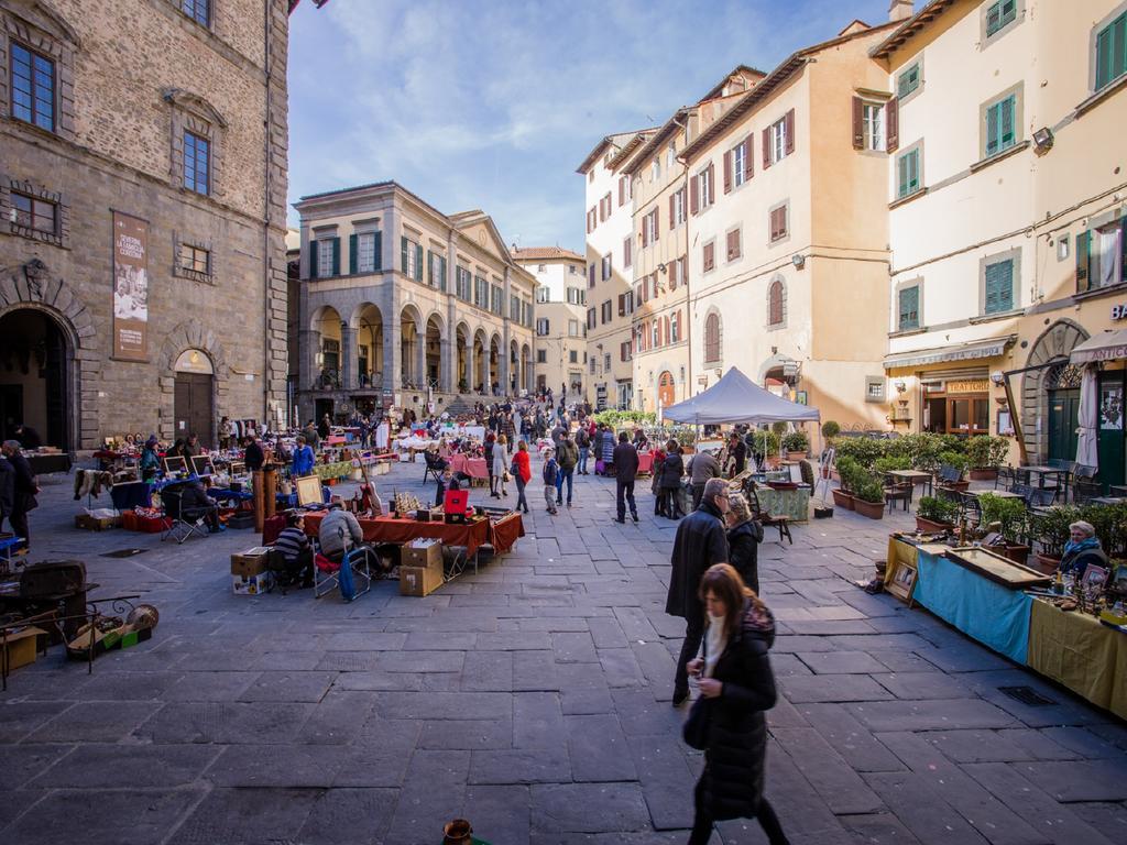
[[[148,361],[149,224],[114,212],[114,357]]]

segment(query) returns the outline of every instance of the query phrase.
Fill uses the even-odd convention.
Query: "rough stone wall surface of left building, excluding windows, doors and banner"
[[[0,0],[0,19],[46,7]],[[37,308],[63,327],[74,357],[72,447],[136,430],[171,437],[172,363],[187,348],[212,358],[216,419],[273,418],[285,404],[286,2],[270,0],[268,21],[261,0],[213,8],[208,30],[170,0],[53,0],[33,25],[65,25],[77,37],[72,133],[14,119],[0,79],[0,315]],[[212,196],[178,187],[170,172],[170,88],[223,118]],[[10,224],[14,183],[63,198],[64,238]],[[112,358],[113,211],[149,222],[144,363]],[[174,272],[181,240],[212,249],[210,278]]]

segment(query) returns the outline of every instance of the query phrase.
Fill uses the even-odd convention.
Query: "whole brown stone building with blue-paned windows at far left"
[[[3,434],[284,413],[287,39],[286,0],[0,0]]]

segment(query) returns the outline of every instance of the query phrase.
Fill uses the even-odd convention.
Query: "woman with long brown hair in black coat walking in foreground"
[[[694,792],[696,815],[689,845],[703,845],[717,821],[758,819],[771,845],[787,836],[763,797],[766,762],[764,711],[775,703],[774,675],[767,650],[774,642],[774,617],[728,563],[710,567],[700,586],[708,626],[700,656],[687,665],[699,678],[695,708],[706,726],[704,771]]]

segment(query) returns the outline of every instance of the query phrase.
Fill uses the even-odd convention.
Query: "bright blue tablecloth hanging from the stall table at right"
[[[1011,660],[1027,662],[1033,599],[919,550],[913,599],[942,620]]]

